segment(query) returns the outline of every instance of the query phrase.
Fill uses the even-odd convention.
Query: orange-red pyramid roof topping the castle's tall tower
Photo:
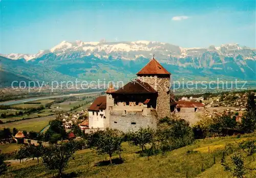
[[[153,58],[150,62],[148,62],[144,68],[142,68],[138,74],[170,74],[164,67]]]

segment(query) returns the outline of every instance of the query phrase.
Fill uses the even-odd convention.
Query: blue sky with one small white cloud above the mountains
[[[2,0],[0,8],[3,54],[33,54],[63,40],[101,39],[256,48],[255,1]]]

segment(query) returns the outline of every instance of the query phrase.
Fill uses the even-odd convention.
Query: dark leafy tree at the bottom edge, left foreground
[[[73,141],[44,147],[42,163],[44,163],[47,170],[58,170],[61,177],[63,169],[68,165],[68,161],[74,152]]]

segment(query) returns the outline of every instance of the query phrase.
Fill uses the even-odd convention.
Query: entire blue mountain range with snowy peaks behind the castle
[[[37,54],[0,54],[0,85],[15,78],[129,81],[153,54],[174,80],[256,80],[256,50],[239,44],[182,48],[158,41],[62,41]]]

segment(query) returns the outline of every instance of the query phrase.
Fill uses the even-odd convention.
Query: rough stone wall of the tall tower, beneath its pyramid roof
[[[159,78],[157,76],[138,76],[143,82],[150,84],[157,92],[157,114],[158,119],[170,117],[170,78]]]

